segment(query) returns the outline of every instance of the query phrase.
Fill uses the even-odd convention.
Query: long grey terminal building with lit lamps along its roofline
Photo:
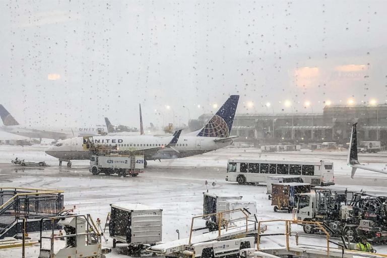
[[[189,121],[191,130],[203,126],[213,114]],[[360,141],[387,144],[387,105],[332,105],[322,113],[239,113],[231,135],[259,144],[337,142],[346,144],[352,124],[358,123]],[[242,139],[243,139],[242,138]]]

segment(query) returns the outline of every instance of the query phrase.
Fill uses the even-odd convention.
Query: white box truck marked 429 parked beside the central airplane
[[[144,155],[93,155],[90,159],[90,172],[93,175],[138,176],[144,173]]]

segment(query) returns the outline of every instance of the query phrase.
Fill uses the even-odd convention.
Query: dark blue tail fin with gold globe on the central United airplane
[[[216,114],[200,130],[198,136],[222,137],[230,136],[232,122],[234,121],[239,95],[231,95]]]

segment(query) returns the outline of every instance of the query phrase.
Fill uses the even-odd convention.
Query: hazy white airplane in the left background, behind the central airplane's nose
[[[74,136],[96,136],[106,135],[105,126],[79,126],[68,128],[38,128],[31,126],[23,126],[0,104],[0,117],[3,120],[4,126],[0,126],[0,131],[20,135],[29,138],[47,138],[47,139],[67,139]]]

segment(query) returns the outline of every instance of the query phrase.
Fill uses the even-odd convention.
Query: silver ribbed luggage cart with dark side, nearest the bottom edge
[[[113,247],[128,244],[130,252],[139,252],[161,241],[162,209],[142,204],[111,204],[109,233]]]

